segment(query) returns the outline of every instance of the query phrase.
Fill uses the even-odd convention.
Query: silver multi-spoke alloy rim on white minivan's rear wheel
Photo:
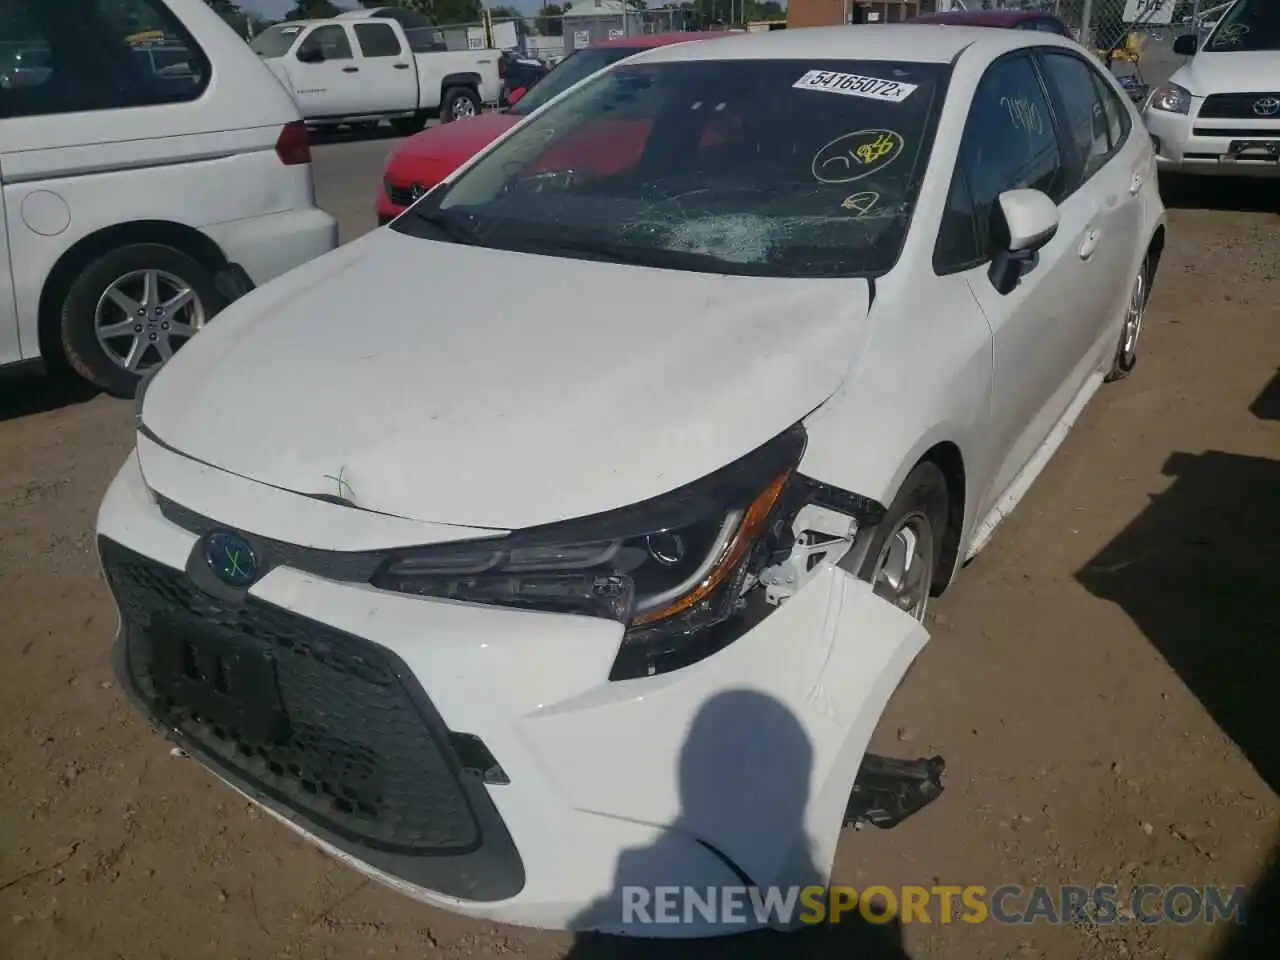
[[[207,315],[191,284],[168,270],[132,270],[99,297],[93,333],[122,370],[160,366],[205,325]]]

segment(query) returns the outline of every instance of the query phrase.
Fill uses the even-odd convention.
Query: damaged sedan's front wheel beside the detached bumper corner
[[[929,462],[916,463],[881,521],[858,575],[870,582],[878,596],[923,621],[938,582],[938,557],[947,529],[947,481]],[[899,538],[900,531],[908,531]],[[910,553],[914,564],[899,561]],[[893,580],[899,580],[902,591]]]

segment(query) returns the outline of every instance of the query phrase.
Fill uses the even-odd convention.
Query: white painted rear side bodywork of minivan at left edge
[[[15,324],[0,296],[0,366],[40,358],[40,301],[59,261],[86,238],[143,221],[204,233],[256,284],[329,252],[337,221],[315,206],[311,166],[285,166],[288,95],[198,0],[165,0],[211,64],[188,102],[0,118],[0,180]],[[63,229],[32,211],[56,210]],[[38,229],[37,229],[38,228]],[[56,338],[56,334],[55,334]]]

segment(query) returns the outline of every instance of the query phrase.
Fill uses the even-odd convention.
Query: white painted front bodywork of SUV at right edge
[[[1267,115],[1251,111],[1233,118],[1201,118],[1206,99],[1219,93],[1280,99],[1280,52],[1202,50],[1169,82],[1190,92],[1192,105],[1187,114],[1157,110],[1149,101],[1143,110],[1147,128],[1160,141],[1160,169],[1196,175],[1280,177],[1280,163],[1275,160],[1220,160],[1233,141],[1280,141],[1280,109]]]

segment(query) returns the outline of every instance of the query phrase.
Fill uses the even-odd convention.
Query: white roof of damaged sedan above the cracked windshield
[[[696,36],[696,35],[695,35]],[[901,60],[951,63],[969,47],[988,56],[1032,45],[1065,44],[1053,33],[910,23],[806,27],[763,33],[716,33],[701,44],[673,44],[636,56],[676,60]]]

